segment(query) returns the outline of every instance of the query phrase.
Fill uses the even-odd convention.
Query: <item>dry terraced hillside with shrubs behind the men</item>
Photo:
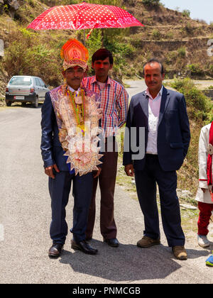
[[[83,41],[81,31],[26,30],[28,23],[51,6],[80,1],[0,0],[0,39],[4,40],[4,58],[0,57],[0,94],[11,75],[40,74],[54,86],[61,75],[59,49],[68,38]],[[93,3],[101,1],[91,1]],[[105,3],[106,2],[106,3]],[[168,78],[174,75],[209,79],[213,77],[213,57],[207,56],[207,40],[213,38],[213,26],[195,21],[183,13],[160,6],[145,6],[142,0],[102,1],[120,4],[145,26],[107,29],[104,45],[115,55],[114,77],[142,76],[143,62],[155,56],[165,63]],[[114,39],[116,35],[116,40]],[[90,53],[102,46],[101,31],[96,29],[87,41]]]

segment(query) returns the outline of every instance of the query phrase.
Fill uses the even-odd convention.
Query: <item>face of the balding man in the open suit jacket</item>
[[[150,92],[159,92],[165,75],[161,74],[158,62],[152,62],[145,66],[144,79]]]

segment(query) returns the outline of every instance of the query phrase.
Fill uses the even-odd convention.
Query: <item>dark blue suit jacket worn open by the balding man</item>
[[[145,128],[145,150],[148,142],[148,96],[145,92],[132,97],[129,106],[126,128],[129,128],[130,137],[125,136],[124,143],[131,140],[131,127],[137,129],[137,145],[139,145],[138,128]],[[187,155],[190,145],[190,124],[187,116],[185,97],[183,94],[165,89],[160,104],[158,121],[158,159],[165,171],[179,170]],[[124,165],[133,164],[135,170],[143,170],[145,159],[133,160],[131,151],[124,152]]]

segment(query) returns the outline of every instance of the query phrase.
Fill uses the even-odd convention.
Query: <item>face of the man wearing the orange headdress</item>
[[[70,87],[78,89],[84,77],[84,70],[80,66],[69,67],[65,72],[62,72],[62,74]]]

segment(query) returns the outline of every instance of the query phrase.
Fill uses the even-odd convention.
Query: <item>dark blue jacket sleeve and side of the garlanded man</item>
[[[55,111],[50,98],[50,92],[45,94],[45,101],[41,108],[41,155],[44,162],[44,167],[50,165],[58,166],[60,171],[69,171],[69,167],[66,163],[66,158],[63,156],[64,152],[60,140],[58,138],[58,124],[55,117]]]

